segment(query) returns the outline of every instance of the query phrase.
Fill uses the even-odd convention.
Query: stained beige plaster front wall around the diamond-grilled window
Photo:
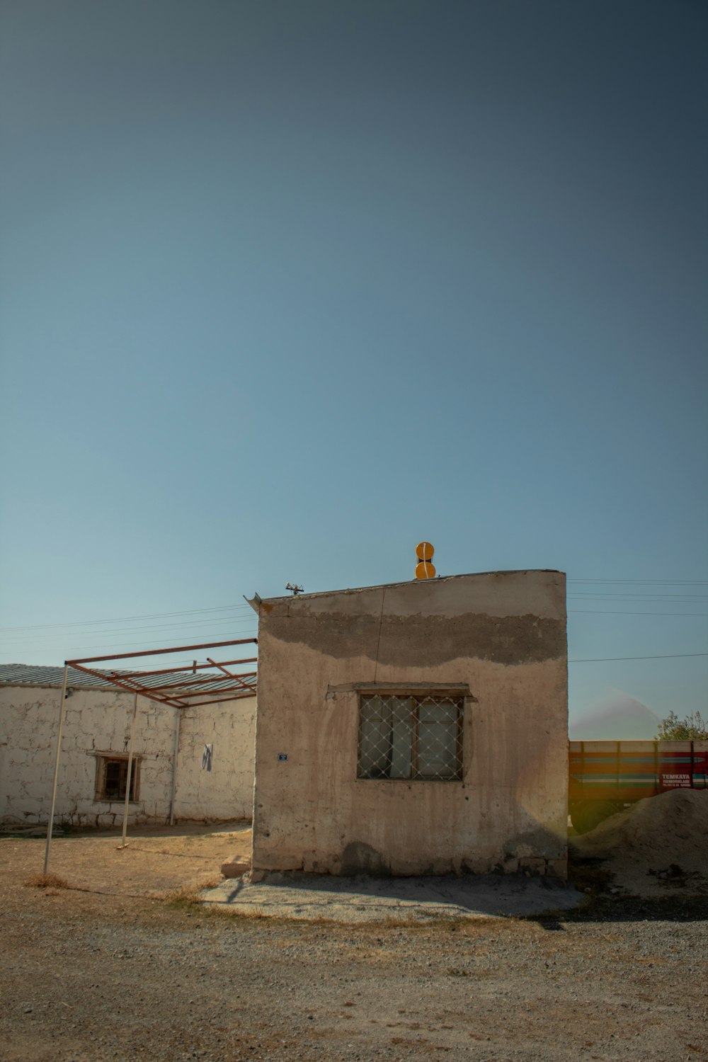
[[[357,778],[372,683],[468,685],[462,781]],[[567,777],[563,573],[262,602],[254,869],[563,877]]]

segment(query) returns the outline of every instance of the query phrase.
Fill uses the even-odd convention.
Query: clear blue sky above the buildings
[[[0,660],[251,633],[190,610],[424,537],[641,581],[569,583],[571,660],[707,651],[705,4],[1,10]],[[707,675],[572,665],[571,718]]]

